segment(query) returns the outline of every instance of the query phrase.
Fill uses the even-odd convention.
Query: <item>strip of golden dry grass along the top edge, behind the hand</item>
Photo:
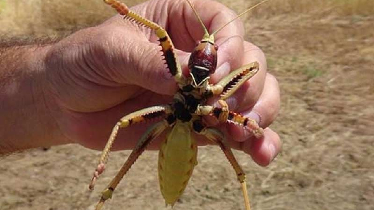
[[[128,4],[131,6],[140,2],[142,0],[133,0]],[[245,0],[221,0],[221,2],[236,11],[243,10],[252,4],[252,1]],[[374,1],[372,0],[274,0],[254,10],[251,16],[272,18],[279,15],[307,13],[314,15],[315,18],[331,14],[361,17],[370,16],[373,10]],[[103,7],[99,0],[1,0],[0,33],[57,35],[76,28],[98,24],[111,14],[113,11],[108,7]]]

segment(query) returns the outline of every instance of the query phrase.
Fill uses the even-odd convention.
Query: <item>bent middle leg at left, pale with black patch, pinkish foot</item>
[[[105,145],[104,150],[101,153],[99,158],[98,166],[93,173],[91,183],[89,185],[89,189],[93,189],[95,186],[95,182],[98,179],[99,175],[104,172],[105,170],[105,162],[108,160],[108,155],[110,152],[111,147],[113,146],[114,140],[116,139],[118,130],[120,128],[125,128],[130,126],[134,123],[144,122],[146,120],[150,120],[152,118],[162,117],[166,114],[171,113],[171,107],[169,105],[165,106],[152,106],[145,109],[141,109],[136,112],[132,112],[131,114],[122,117],[117,124],[113,127],[112,133],[108,139],[107,144]]]

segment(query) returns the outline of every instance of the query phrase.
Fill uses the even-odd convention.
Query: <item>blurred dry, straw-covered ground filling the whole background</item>
[[[41,2],[5,1],[1,33],[57,35],[112,14],[99,0]],[[250,5],[223,3],[237,11]],[[244,19],[246,38],[264,50],[282,91],[272,125],[283,140],[282,154],[263,168],[236,152],[254,210],[374,209],[373,14],[373,0],[276,0]],[[0,209],[92,209],[129,152],[111,156],[89,193],[98,154],[66,145],[2,158]],[[164,208],[156,157],[145,152],[105,209]],[[175,209],[244,209],[235,179],[216,146],[200,148],[199,165]]]

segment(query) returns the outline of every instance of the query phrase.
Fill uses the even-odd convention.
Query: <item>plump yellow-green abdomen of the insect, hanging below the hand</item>
[[[189,123],[177,121],[159,151],[160,191],[166,204],[174,205],[192,175],[197,146]]]

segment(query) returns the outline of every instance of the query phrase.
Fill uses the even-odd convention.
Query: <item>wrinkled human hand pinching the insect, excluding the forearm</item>
[[[234,13],[214,1],[193,1],[209,31],[232,19]],[[206,8],[209,6],[209,10]],[[166,28],[182,68],[203,31],[184,0],[151,0],[131,8]],[[279,111],[276,79],[266,72],[260,49],[243,41],[243,26],[235,21],[216,35],[218,68],[216,83],[243,64],[258,61],[260,71],[231,98],[229,108],[256,119],[267,127]],[[78,31],[49,47],[46,56],[46,98],[51,115],[67,142],[102,149],[111,128],[123,115],[152,105],[167,104],[177,90],[165,69],[153,31],[123,21],[118,15],[101,25]],[[131,149],[145,131],[144,124],[124,129],[113,149]],[[278,154],[278,135],[265,129],[254,140],[243,128],[221,126],[233,148],[267,165]],[[150,148],[158,148],[156,141]],[[273,146],[272,146],[273,145]],[[274,148],[274,149],[272,149]]]

